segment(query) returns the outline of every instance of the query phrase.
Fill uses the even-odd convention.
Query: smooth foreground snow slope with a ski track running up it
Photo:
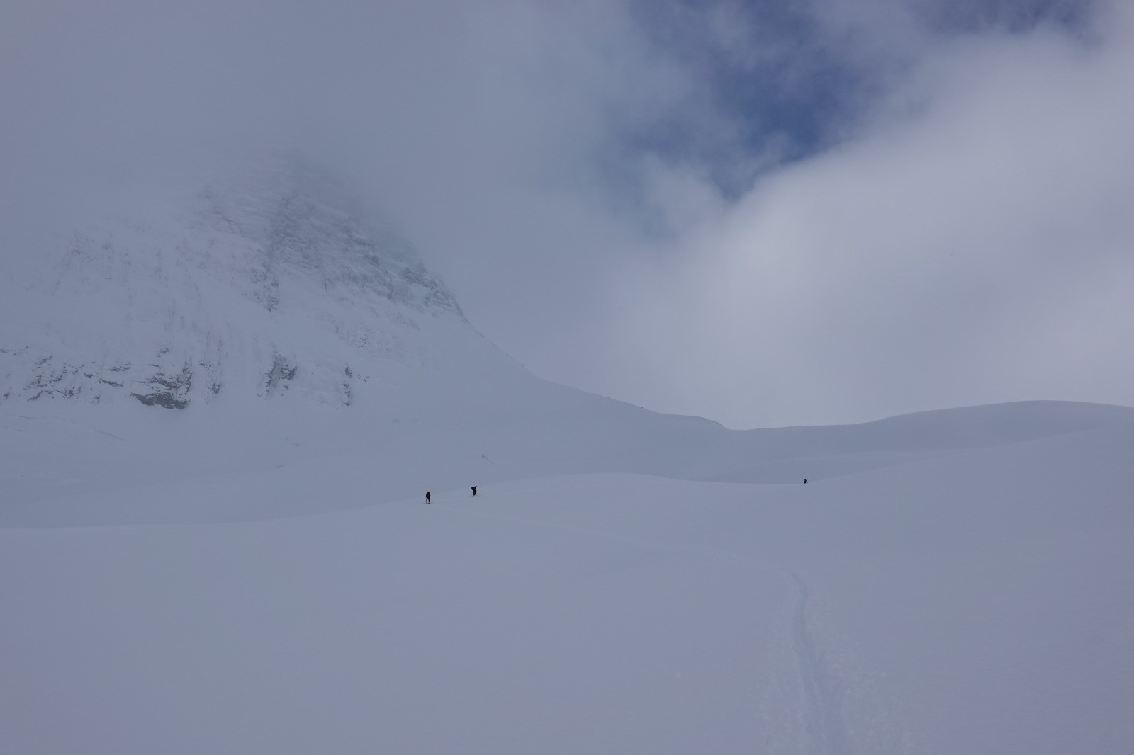
[[[0,529],[0,749],[1128,753],[1132,451],[1125,423],[807,485]]]

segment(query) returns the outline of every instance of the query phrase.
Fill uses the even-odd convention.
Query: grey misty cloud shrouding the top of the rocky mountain
[[[298,149],[369,185],[486,330],[553,333],[631,234],[624,135],[692,96],[632,26],[593,1],[17,3],[0,192]]]

